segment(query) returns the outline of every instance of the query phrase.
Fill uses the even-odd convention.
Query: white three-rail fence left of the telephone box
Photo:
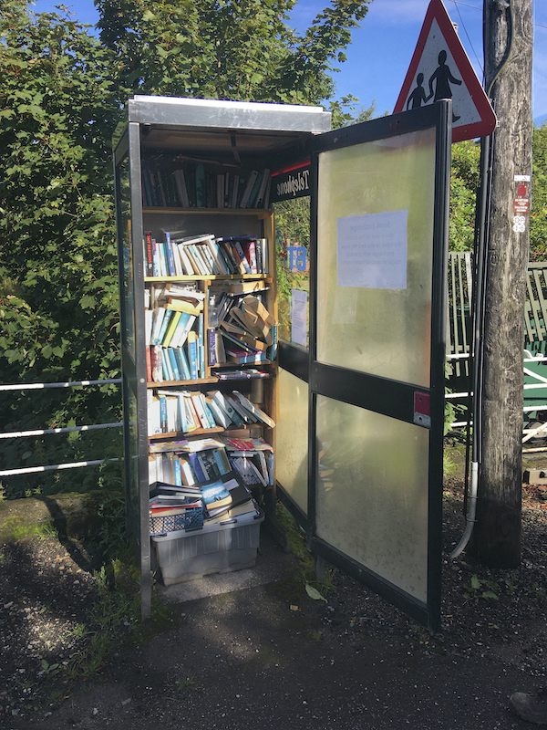
[[[12,385],[0,385],[0,391],[38,391],[47,388],[85,388],[91,385],[119,385],[121,378],[111,378],[98,381],[66,381],[66,382],[29,382],[17,383]],[[67,426],[63,428],[47,428],[36,429],[34,431],[12,431],[0,433],[0,439],[18,439],[28,438],[31,436],[44,436],[53,433],[74,433],[86,432],[107,428],[121,428],[123,423],[92,423],[84,426]],[[92,461],[72,462],[70,464],[50,464],[46,466],[26,466],[22,469],[4,469],[0,471],[0,476],[15,476],[18,474],[38,474],[40,472],[61,471],[63,469],[77,469],[82,466],[98,466],[104,464],[107,459],[94,459]],[[109,459],[108,461],[118,461],[118,459]]]

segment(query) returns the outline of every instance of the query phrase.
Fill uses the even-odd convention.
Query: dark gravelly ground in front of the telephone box
[[[458,479],[447,482],[444,503],[438,634],[341,574],[327,602],[311,600],[302,581],[287,576],[171,606],[145,636],[119,608],[100,629],[115,651],[86,682],[67,677],[101,626],[90,613],[106,588],[96,558],[76,540],[6,541],[0,726],[528,726],[508,698],[545,683],[547,487],[523,485],[522,561],[512,570],[481,568],[465,553],[450,561],[464,527]]]

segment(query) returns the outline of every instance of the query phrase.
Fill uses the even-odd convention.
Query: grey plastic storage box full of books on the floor
[[[224,523],[152,537],[161,577],[166,586],[211,573],[253,568],[260,543],[263,512],[241,515]]]

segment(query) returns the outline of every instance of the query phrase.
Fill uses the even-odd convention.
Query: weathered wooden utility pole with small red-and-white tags
[[[484,0],[485,88],[499,126],[491,140],[486,219],[481,448],[470,550],[484,565],[521,559],[525,230],[515,225],[519,177],[532,174],[532,0]],[[530,183],[528,183],[530,186]]]

